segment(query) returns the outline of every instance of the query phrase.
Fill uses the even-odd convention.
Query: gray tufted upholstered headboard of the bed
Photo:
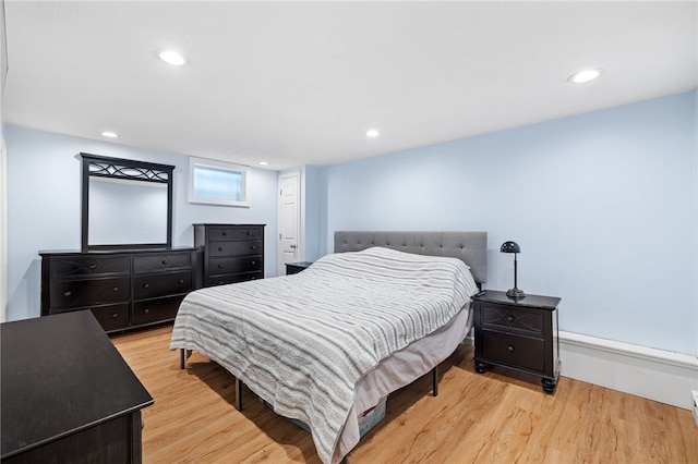
[[[486,232],[336,231],[335,253],[360,252],[372,246],[416,255],[448,256],[470,266],[476,282],[488,279]]]

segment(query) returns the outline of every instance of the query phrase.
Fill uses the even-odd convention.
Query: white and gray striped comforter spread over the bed
[[[298,274],[190,293],[170,349],[208,356],[278,414],[310,425],[329,463],[357,381],[448,323],[477,291],[455,258],[378,247],[327,255]]]

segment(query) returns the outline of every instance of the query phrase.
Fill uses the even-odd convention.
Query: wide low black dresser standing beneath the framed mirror
[[[107,332],[174,319],[194,290],[194,248],[40,252],[41,316],[91,309]]]

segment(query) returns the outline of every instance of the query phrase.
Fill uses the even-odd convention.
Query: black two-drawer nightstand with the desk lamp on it
[[[559,374],[557,340],[558,297],[527,295],[512,298],[488,290],[473,296],[476,370],[489,364],[533,374],[542,378],[543,391],[554,393]]]

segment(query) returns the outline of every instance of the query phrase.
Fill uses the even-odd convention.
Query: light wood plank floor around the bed
[[[155,399],[143,410],[143,460],[154,463],[320,463],[310,434],[194,353],[185,370],[169,351],[171,326],[115,335],[117,349]],[[687,410],[561,378],[484,375],[472,346],[431,376],[392,394],[387,413],[349,454],[351,463],[697,463],[698,426]],[[564,363],[564,359],[563,359]],[[510,371],[508,374],[512,374]]]

